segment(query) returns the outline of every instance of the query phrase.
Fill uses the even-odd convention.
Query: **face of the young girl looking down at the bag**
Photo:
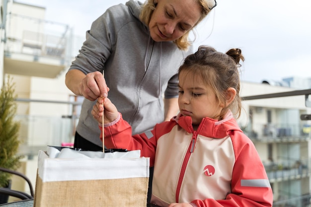
[[[193,125],[199,125],[203,118],[219,119],[222,106],[214,90],[207,86],[202,77],[181,71],[179,74],[178,105],[183,116],[190,116]]]

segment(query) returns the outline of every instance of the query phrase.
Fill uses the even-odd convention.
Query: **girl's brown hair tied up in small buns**
[[[189,55],[178,70],[187,71],[191,74],[199,75],[207,86],[212,87],[216,94],[216,99],[220,103],[226,104],[227,89],[233,87],[236,95],[229,105],[225,105],[220,114],[224,118],[229,109],[238,118],[241,114],[240,79],[238,68],[240,60],[244,61],[240,49],[231,49],[226,54],[217,52],[214,48],[200,46],[198,51]]]

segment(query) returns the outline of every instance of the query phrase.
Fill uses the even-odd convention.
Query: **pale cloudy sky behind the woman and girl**
[[[45,7],[46,20],[68,24],[84,36],[108,7],[127,0],[15,1]],[[310,0],[217,0],[195,33],[194,50],[200,45],[224,53],[241,49],[242,81],[311,78]]]

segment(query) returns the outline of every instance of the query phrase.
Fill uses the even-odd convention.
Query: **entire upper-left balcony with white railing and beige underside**
[[[8,18],[14,28],[5,30],[4,73],[55,78],[70,65],[68,25],[16,14]]]

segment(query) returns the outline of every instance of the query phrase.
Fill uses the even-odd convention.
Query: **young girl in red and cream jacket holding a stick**
[[[179,68],[180,113],[132,137],[108,98],[92,110],[105,146],[140,149],[154,166],[151,203],[162,207],[271,207],[273,194],[260,157],[238,127],[239,49],[201,46]],[[104,107],[102,106],[104,103]],[[148,114],[146,114],[148,116]]]

